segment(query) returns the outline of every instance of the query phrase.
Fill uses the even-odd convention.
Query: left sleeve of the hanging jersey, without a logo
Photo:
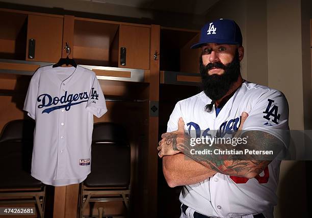
[[[40,68],[36,70],[31,78],[26,98],[24,101],[23,111],[27,112],[27,115],[35,120],[36,118],[36,101],[39,90]]]

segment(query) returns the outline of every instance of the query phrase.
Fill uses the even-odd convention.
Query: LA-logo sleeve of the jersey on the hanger
[[[86,109],[96,117],[101,117],[107,112],[105,97],[95,74]]]

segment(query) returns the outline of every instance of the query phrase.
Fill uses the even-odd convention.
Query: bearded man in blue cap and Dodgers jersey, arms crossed
[[[158,146],[168,185],[184,185],[180,217],[273,217],[280,166],[276,156],[288,147],[287,100],[277,90],[242,78],[244,47],[235,21],[205,24],[191,48],[202,51],[203,92],[176,103]],[[194,147],[192,135],[210,139],[234,135],[247,140],[237,150],[272,150],[274,155],[220,155],[216,150],[232,146],[215,141]],[[202,155],[194,148],[208,152]]]

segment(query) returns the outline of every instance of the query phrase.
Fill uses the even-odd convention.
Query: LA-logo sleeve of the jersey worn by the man
[[[289,106],[285,96],[270,90],[262,94],[248,113],[243,131],[259,130],[278,138],[285,147],[289,145]]]

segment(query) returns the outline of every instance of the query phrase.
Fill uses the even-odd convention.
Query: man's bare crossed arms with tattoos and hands
[[[235,137],[242,130],[248,114],[243,113],[241,124]],[[193,147],[190,145],[190,135],[185,133],[184,121],[178,121],[178,129],[173,132],[162,134],[159,142],[159,156],[164,157],[163,170],[165,178],[170,186],[194,184],[221,173],[230,176],[253,178],[261,173],[271,162],[265,155],[240,155],[235,154],[219,155],[212,152],[208,155],[191,154]],[[280,140],[272,134],[263,131],[247,131],[241,138],[248,138],[244,145],[249,150],[272,150],[277,154],[283,148]],[[197,149],[210,148],[225,150],[224,144],[214,144],[211,147],[197,145]],[[239,148],[238,148],[239,149]],[[183,153],[183,154],[181,154]],[[177,155],[178,154],[178,155]],[[187,158],[189,157],[189,158]],[[272,158],[272,156],[271,156]]]

